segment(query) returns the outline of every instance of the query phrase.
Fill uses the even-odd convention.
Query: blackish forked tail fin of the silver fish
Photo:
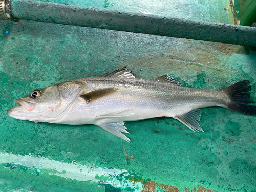
[[[255,103],[250,100],[250,81],[240,81],[220,90],[226,92],[231,98],[231,102],[227,104],[228,109],[245,115],[256,116],[256,106],[248,105],[249,103]]]

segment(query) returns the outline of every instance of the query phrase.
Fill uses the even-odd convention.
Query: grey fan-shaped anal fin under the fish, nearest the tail
[[[176,115],[174,118],[182,122],[189,129],[195,131],[202,131],[201,125],[197,122],[200,121],[202,111],[200,109],[192,110],[187,113]]]

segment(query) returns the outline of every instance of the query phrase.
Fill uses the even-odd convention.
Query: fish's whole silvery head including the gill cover
[[[20,120],[56,123],[68,112],[70,106],[79,97],[85,82],[67,81],[15,100],[17,107],[7,111],[7,115]]]

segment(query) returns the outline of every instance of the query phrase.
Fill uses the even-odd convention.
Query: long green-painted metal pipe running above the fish
[[[256,47],[256,28],[254,27],[31,0],[13,0],[9,4],[13,19]]]

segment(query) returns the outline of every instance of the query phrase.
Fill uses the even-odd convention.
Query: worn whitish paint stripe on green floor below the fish
[[[31,155],[13,155],[0,153],[0,164],[12,162],[19,166],[36,167],[36,169],[45,169],[49,175],[56,175],[77,181],[94,181],[98,182],[100,176],[108,176],[111,180],[126,170],[109,169],[105,167],[96,167],[94,165],[79,165],[76,163],[63,163],[51,160],[49,158],[38,158]]]

